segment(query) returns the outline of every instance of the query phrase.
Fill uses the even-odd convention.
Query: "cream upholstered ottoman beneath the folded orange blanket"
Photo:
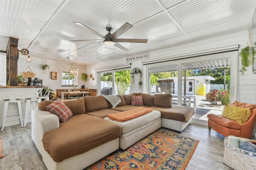
[[[108,117],[104,119],[107,121],[112,121]],[[153,110],[150,113],[135,119],[131,119],[129,121],[112,122],[121,127],[121,135],[119,136],[119,148],[125,150],[132,144],[138,142],[140,139],[161,127],[161,113],[160,111]]]

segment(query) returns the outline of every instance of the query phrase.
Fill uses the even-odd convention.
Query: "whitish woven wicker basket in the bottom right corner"
[[[224,139],[223,163],[234,170],[255,170],[256,153],[237,148],[227,140],[228,137]]]

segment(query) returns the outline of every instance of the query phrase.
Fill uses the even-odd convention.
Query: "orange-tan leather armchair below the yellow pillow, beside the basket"
[[[256,120],[256,109],[252,109],[252,113],[246,123],[239,125],[236,121],[227,119],[220,115],[209,114],[208,117],[208,129],[213,128],[216,132],[219,132],[223,136],[229,135],[252,138],[252,131]]]

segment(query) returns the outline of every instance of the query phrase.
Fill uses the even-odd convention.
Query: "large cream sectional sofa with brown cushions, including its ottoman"
[[[131,96],[136,95],[142,95],[143,107],[153,109],[151,113],[124,123],[107,118],[110,113],[138,107],[131,105]],[[172,107],[170,94],[117,96],[121,102],[114,108],[103,96],[64,100],[73,113],[64,123],[59,123],[56,115],[46,111],[45,106],[54,101],[39,103],[39,110],[32,111],[32,139],[48,169],[86,168],[118,148],[127,148],[161,126],[181,132],[194,114],[190,107]]]

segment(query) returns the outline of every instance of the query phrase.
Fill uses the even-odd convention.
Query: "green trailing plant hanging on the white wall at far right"
[[[250,53],[252,53],[252,71],[256,71],[254,68],[254,56],[255,56],[255,47],[250,47],[249,45],[241,49],[239,55],[241,57],[241,63],[242,63],[242,68],[240,69],[241,75],[244,75],[244,72],[246,71],[246,67],[249,67],[250,61],[249,61],[249,56]]]

